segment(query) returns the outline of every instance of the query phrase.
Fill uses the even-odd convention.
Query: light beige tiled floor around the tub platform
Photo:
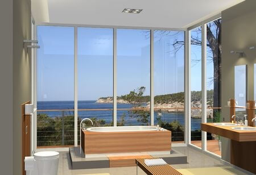
[[[172,165],[175,169],[185,168],[208,168],[208,167],[224,167],[226,165],[221,164],[220,160],[214,159],[208,155],[201,153],[193,148],[189,147],[174,147],[176,151],[184,153],[188,157],[188,164]],[[110,173],[111,175],[133,175],[136,174],[136,167],[124,167],[124,168],[102,168],[102,169],[80,169],[72,170],[68,161],[68,152],[60,152],[59,160],[59,173],[58,175],[77,175],[77,174],[92,174],[92,173]],[[139,175],[145,173],[139,169]],[[242,173],[241,173],[242,174]]]

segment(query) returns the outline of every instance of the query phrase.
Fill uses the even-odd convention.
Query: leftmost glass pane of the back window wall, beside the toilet
[[[37,146],[74,145],[74,28],[37,34]]]

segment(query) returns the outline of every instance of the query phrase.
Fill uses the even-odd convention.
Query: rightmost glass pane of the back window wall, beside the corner
[[[172,143],[184,143],[184,32],[154,31],[155,124],[172,131]]]

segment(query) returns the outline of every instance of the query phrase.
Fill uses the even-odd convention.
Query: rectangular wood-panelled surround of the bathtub
[[[81,131],[87,154],[171,151],[171,131],[90,132]]]

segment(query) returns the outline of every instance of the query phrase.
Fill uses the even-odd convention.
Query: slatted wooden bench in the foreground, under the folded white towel
[[[158,158],[143,158],[143,159],[136,159],[137,168],[138,166],[148,175],[182,175],[176,169],[172,168],[171,165],[156,165],[156,166],[147,166],[144,163],[145,159],[158,159]],[[138,169],[137,169],[138,174]]]

